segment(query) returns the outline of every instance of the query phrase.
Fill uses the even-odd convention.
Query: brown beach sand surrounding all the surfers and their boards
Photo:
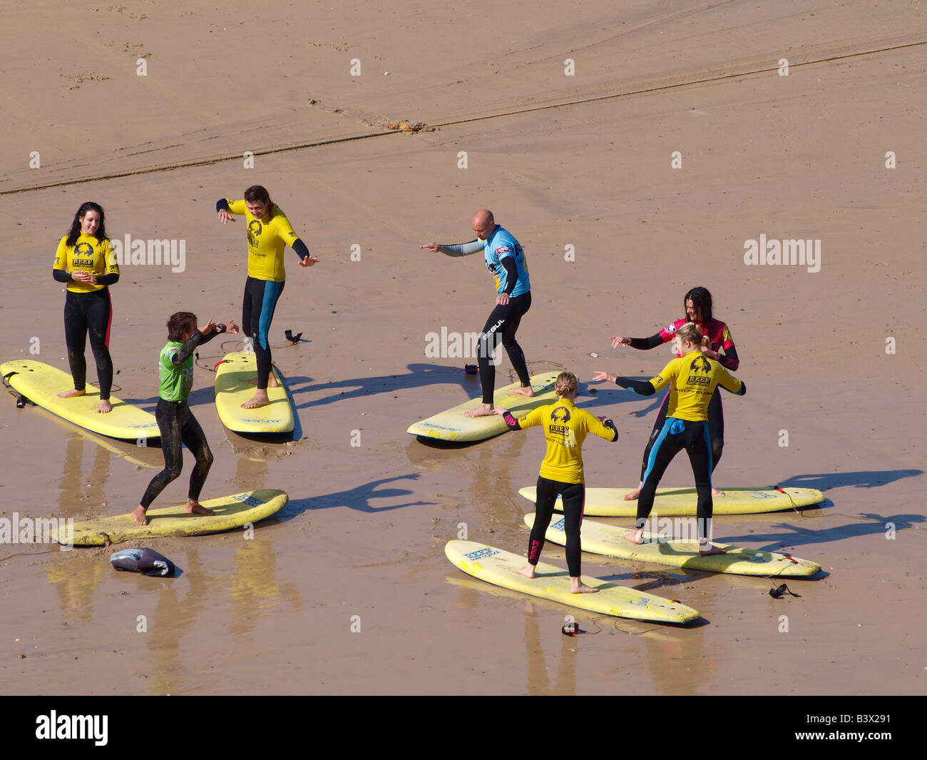
[[[300,269],[287,251],[273,321],[273,345],[304,333],[273,354],[297,440],[225,431],[208,370],[190,400],[216,455],[204,497],[274,487],[291,500],[251,541],[146,542],[183,569],[173,580],[114,572],[112,549],[0,547],[4,692],[924,692],[927,8],[121,3],[5,11],[0,356],[38,338],[33,358],[67,369],[50,269],[72,214],[96,200],[111,238],[185,241],[183,272],[124,266],[112,289],[118,395],[152,409],[165,318],[240,316],[244,225],[218,224],[213,204],[263,184],[322,259]],[[439,128],[388,133],[401,119]],[[719,518],[717,539],[785,547],[827,577],[777,600],[765,579],[584,556],[585,573],[704,615],[673,628],[526,599],[445,560],[461,523],[471,539],[526,547],[516,492],[543,452],[537,431],[449,449],[405,432],[477,394],[472,360],[426,358],[425,334],[481,328],[491,282],[478,256],[419,245],[471,239],[484,206],[527,251],[534,303],[518,338],[536,371],[650,377],[667,349],[612,351],[608,337],[653,334],[682,316],[690,287],[712,290],[749,387],[726,399],[716,482],[828,498]],[[745,265],[744,241],[761,234],[819,239],[819,272]],[[212,354],[219,341],[199,364]],[[589,485],[637,481],[654,404],[628,395],[581,396],[621,434],[586,445]],[[128,511],[160,466],[158,449],[11,397],[0,429],[0,516]],[[691,477],[680,458],[665,484]],[[186,473],[158,504],[185,489]],[[565,566],[560,547],[544,559]],[[590,635],[561,635],[571,613]]]

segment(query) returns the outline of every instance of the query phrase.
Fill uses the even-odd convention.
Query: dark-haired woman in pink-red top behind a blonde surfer
[[[612,348],[618,346],[630,346],[643,351],[649,351],[658,345],[663,345],[672,341],[677,334],[677,330],[687,323],[694,323],[702,331],[702,334],[708,337],[708,344],[702,347],[702,353],[709,359],[717,361],[722,367],[736,372],[737,367],[741,366],[740,359],[737,358],[737,349],[734,347],[734,339],[730,337],[728,326],[718,319],[712,317],[711,293],[705,288],[692,288],[682,299],[682,305],[686,310],[686,316],[670,323],[667,327],[661,329],[656,335],[650,338],[624,338],[615,336],[612,338]],[[721,354],[721,351],[724,354]],[[682,354],[677,351],[677,358]],[[669,402],[669,393],[663,397],[663,404],[660,405],[660,411],[654,420],[654,430],[650,434],[650,440],[643,450],[643,462],[641,463],[641,482],[638,487],[625,496],[627,501],[633,501],[641,495],[641,486],[643,485],[643,474],[647,469],[647,460],[650,458],[651,448],[659,431],[663,428],[663,423],[667,419],[667,404]],[[724,409],[721,406],[721,393],[716,390],[711,397],[711,403],[708,405],[708,436],[711,440],[712,470],[717,467],[721,458],[721,452],[724,449]],[[724,496],[723,491],[719,491],[712,486],[712,494],[715,496]]]

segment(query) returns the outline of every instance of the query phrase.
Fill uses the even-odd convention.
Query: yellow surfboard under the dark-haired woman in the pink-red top
[[[625,494],[633,488],[587,488],[586,506],[583,513],[590,517],[635,517],[637,499],[625,501]],[[781,509],[810,507],[820,504],[824,495],[816,488],[783,488],[781,493],[775,487],[768,488],[722,488],[725,496],[715,496],[715,515],[746,515],[757,512],[777,512]],[[518,491],[532,504],[537,500],[537,488],[533,485]],[[694,517],[698,506],[698,495],[694,488],[657,488],[654,512],[660,515]],[[558,498],[553,509],[563,511]]]

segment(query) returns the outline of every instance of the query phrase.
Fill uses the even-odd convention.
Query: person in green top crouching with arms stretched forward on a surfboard
[[[197,515],[214,514],[197,501],[203,483],[206,483],[206,476],[210,473],[212,452],[186,400],[193,387],[193,352],[197,346],[211,341],[222,332],[237,335],[238,328],[231,320],[226,327],[211,319],[203,328],[197,328],[197,315],[190,312],[172,314],[167,326],[168,342],[161,350],[158,362],[159,399],[155,409],[155,419],[158,420],[161,434],[161,450],[164,452],[164,470],[151,479],[138,507],[133,509],[132,518],[139,525],[148,524],[146,509],[183,470],[183,444],[197,457],[197,464],[190,473],[190,490],[184,509]]]

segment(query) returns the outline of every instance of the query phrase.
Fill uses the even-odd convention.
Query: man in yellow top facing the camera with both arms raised
[[[306,244],[293,231],[286,214],[271,200],[266,188],[252,185],[245,190],[245,200],[221,198],[216,212],[222,224],[235,222],[233,214],[245,214],[248,224],[248,279],[241,310],[241,326],[250,337],[258,365],[258,389],[242,404],[243,409],[256,409],[271,403],[267,386],[277,386],[271,372],[271,344],[268,332],[277,299],[286,285],[284,250],[289,246],[299,257],[299,266],[311,266],[319,260],[309,254]]]

